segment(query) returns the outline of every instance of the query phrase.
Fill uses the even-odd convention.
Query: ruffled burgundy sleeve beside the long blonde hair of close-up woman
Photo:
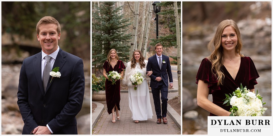
[[[203,80],[205,83],[208,83],[210,94],[211,90],[220,90],[220,86],[217,85],[218,81],[214,74],[211,72],[211,67],[211,62],[207,58],[204,58],[196,75],[196,84],[198,84],[198,80]]]

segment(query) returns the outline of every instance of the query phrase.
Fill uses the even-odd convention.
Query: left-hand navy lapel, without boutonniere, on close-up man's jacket
[[[42,82],[42,71],[41,71],[42,52],[37,54],[35,57],[36,57],[36,59],[33,60],[34,74],[35,74],[36,80],[38,82],[38,85],[40,87],[40,91],[44,95],[45,92],[44,92],[44,86],[43,86],[43,82]]]

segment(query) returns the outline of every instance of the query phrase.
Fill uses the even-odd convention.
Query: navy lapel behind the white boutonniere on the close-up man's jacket
[[[60,48],[52,69],[54,69],[55,67],[59,67],[59,71],[61,71],[63,65],[66,62],[66,60],[64,59],[65,57],[66,57],[65,52],[63,50],[61,50],[61,48]],[[51,78],[52,78],[52,76],[49,76],[47,86],[46,86],[46,92],[54,81],[54,79],[52,79],[52,81],[50,83]]]

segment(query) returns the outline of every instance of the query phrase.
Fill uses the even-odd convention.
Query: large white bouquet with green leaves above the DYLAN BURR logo
[[[262,116],[267,110],[267,108],[262,107],[265,103],[262,102],[258,90],[255,94],[250,92],[246,86],[243,88],[241,84],[241,88],[237,88],[232,94],[229,94],[230,96],[225,94],[226,99],[223,100],[225,101],[223,105],[227,103],[226,106],[232,106],[229,110],[231,112],[229,116]]]

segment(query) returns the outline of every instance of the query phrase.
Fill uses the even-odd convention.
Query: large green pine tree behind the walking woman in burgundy
[[[100,12],[93,15],[92,21],[92,65],[102,69],[109,50],[117,50],[119,60],[128,61],[131,34],[128,33],[129,19],[119,14],[122,7],[115,7],[115,2],[105,1],[96,7]]]

